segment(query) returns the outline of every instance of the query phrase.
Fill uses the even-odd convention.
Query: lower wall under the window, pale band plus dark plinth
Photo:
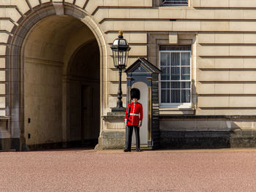
[[[221,115],[162,117],[160,147],[256,147],[255,118]]]

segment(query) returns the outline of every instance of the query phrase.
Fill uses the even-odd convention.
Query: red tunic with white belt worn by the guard
[[[129,112],[129,120],[127,123],[127,115],[128,115],[128,109],[131,107],[130,112]],[[125,112],[125,118],[124,122],[127,123],[128,126],[138,126],[142,124],[143,120],[143,108],[142,104],[139,102],[131,102],[127,106],[127,112]]]

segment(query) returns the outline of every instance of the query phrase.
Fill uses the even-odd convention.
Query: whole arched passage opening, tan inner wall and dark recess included
[[[100,54],[91,30],[76,18],[50,16],[29,32],[23,53],[26,145],[31,149],[63,143],[96,145]],[[91,101],[92,113],[81,110],[86,100]]]

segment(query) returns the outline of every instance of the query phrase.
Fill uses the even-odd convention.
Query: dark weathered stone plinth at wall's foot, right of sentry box
[[[161,131],[160,148],[256,147],[256,131]]]

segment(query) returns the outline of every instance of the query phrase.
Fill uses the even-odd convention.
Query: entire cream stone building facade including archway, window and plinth
[[[110,46],[162,69],[161,147],[255,147],[256,1],[0,0],[0,148],[124,147]],[[127,104],[127,79],[122,76]],[[96,140],[96,142],[95,142]]]

